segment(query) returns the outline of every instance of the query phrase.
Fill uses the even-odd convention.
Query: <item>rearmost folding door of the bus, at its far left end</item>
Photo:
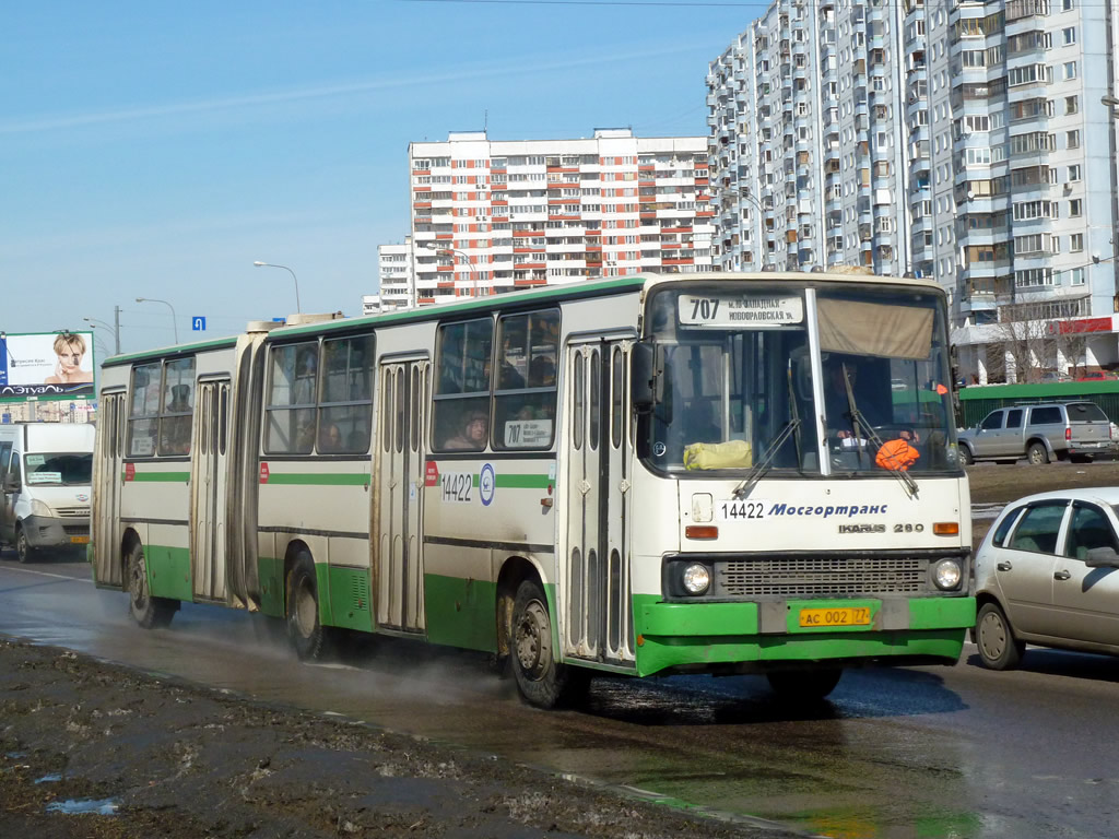
[[[125,394],[103,394],[97,417],[97,482],[93,488],[95,579],[123,585],[121,567],[121,489],[124,487]]]

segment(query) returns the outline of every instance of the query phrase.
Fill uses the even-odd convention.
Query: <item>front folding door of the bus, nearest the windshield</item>
[[[629,341],[571,345],[564,378],[568,433],[567,654],[633,663],[630,610]]]

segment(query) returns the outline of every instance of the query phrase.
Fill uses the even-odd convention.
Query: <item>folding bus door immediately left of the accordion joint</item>
[[[229,379],[199,381],[195,398],[194,474],[190,489],[190,563],[195,598],[226,597],[226,501],[229,449]]]

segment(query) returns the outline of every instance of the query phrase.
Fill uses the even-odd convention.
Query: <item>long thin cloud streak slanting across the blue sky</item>
[[[422,85],[442,85],[449,82],[491,78],[504,75],[524,77],[526,66],[532,67],[532,69],[536,73],[555,73],[601,64],[617,64],[619,62],[632,62],[651,57],[662,58],[667,55],[688,53],[696,48],[699,47],[697,47],[697,45],[681,46],[677,44],[671,48],[656,47],[639,51],[612,53],[610,55],[596,55],[586,58],[575,58],[560,62],[540,62],[538,56],[521,56],[499,65],[483,65],[477,66],[473,69],[463,68],[453,73],[439,73],[426,76],[410,74],[399,75],[394,78],[377,78],[364,82],[321,85],[317,87],[304,87],[290,91],[245,94],[241,96],[222,96],[192,102],[172,102],[164,105],[143,105],[113,111],[27,117],[22,120],[0,122],[0,134],[31,134],[50,131],[69,131],[74,129],[121,122],[152,120],[163,116],[184,116],[220,111],[239,111],[267,105],[290,104],[293,102],[312,102],[316,100],[351,96],[355,94],[375,93],[378,91],[391,91],[403,87],[414,88]]]

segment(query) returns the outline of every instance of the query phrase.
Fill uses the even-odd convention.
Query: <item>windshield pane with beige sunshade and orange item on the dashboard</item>
[[[956,469],[951,376],[939,299],[824,290],[818,299],[826,443],[833,472]]]

